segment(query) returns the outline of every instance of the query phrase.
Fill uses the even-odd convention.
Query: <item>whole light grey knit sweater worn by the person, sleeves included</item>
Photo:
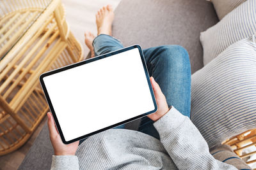
[[[86,139],[76,156],[52,156],[51,169],[236,169],[214,159],[188,117],[174,107],[154,123],[160,140],[110,129]]]

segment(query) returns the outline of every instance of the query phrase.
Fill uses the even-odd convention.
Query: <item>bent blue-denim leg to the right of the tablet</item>
[[[188,52],[178,45],[143,50],[148,73],[157,81],[168,106],[190,117],[191,69]]]

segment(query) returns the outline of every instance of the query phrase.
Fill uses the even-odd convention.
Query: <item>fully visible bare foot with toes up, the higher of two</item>
[[[98,35],[112,35],[112,23],[114,20],[114,12],[111,5],[103,6],[96,14],[96,24]]]

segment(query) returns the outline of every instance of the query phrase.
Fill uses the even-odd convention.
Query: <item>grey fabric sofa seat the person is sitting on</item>
[[[193,73],[203,66],[200,32],[216,22],[214,8],[205,0],[123,0],[115,10],[113,36],[125,46],[182,45],[189,52]],[[133,123],[125,127],[133,129]],[[49,169],[52,154],[45,125],[19,169]]]

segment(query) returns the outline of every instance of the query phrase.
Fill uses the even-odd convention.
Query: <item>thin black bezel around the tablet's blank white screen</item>
[[[124,120],[124,121],[122,121],[122,122],[118,122],[117,124],[113,124],[113,125],[110,125],[110,126],[108,126],[108,127],[104,127],[103,129],[99,129],[98,131],[94,131],[94,132],[91,132],[91,133],[89,133],[89,134],[85,134],[85,135],[83,135],[83,136],[80,136],[80,137],[78,137],[78,138],[72,139],[72,140],[70,140],[70,141],[66,141],[65,138],[64,138],[63,132],[62,132],[62,130],[61,130],[60,124],[59,124],[59,122],[58,122],[58,118],[56,117],[54,108],[53,108],[53,106],[52,106],[51,99],[50,99],[49,94],[48,94],[48,92],[47,92],[47,89],[46,89],[46,87],[45,87],[45,83],[44,83],[43,78],[46,77],[46,76],[50,76],[50,75],[52,75],[52,74],[60,73],[61,71],[66,71],[66,70],[72,69],[72,68],[74,68],[74,67],[78,67],[78,66],[82,66],[82,65],[84,65],[84,64],[88,64],[88,63],[93,62],[93,61],[96,61],[96,60],[104,59],[104,58],[106,58],[106,57],[111,57],[111,56],[116,55],[116,54],[118,54],[118,53],[126,52],[126,51],[132,50],[132,49],[134,49],[134,48],[138,48],[138,50],[139,50],[139,52],[140,52],[141,62],[142,62],[143,67],[144,67],[145,76],[147,77],[148,87],[149,87],[149,89],[150,89],[151,97],[152,97],[152,100],[153,100],[153,103],[154,103],[154,107],[155,107],[154,110],[148,111],[147,113],[143,113],[143,114],[138,115],[138,116],[136,116],[136,117],[129,118],[129,119]],[[116,126],[118,126],[118,125],[126,124],[126,123],[128,123],[128,122],[131,122],[131,121],[136,120],[136,119],[138,119],[138,118],[145,117],[145,116],[147,116],[147,115],[149,115],[149,114],[154,113],[154,112],[157,111],[156,99],[155,99],[155,96],[154,96],[154,92],[153,92],[153,89],[152,89],[152,85],[151,85],[151,83],[150,83],[150,78],[149,78],[149,74],[148,74],[147,65],[146,65],[146,63],[145,63],[145,58],[144,58],[144,55],[143,55],[143,52],[142,52],[142,50],[141,50],[141,46],[140,46],[140,45],[128,46],[127,48],[122,48],[122,49],[116,50],[116,51],[114,51],[114,52],[109,52],[109,53],[106,53],[106,54],[103,54],[103,55],[99,55],[99,56],[97,56],[97,57],[93,57],[92,59],[83,60],[83,61],[81,61],[81,62],[76,62],[76,63],[70,64],[70,65],[68,65],[68,66],[64,66],[64,67],[60,67],[60,68],[58,68],[58,69],[54,69],[54,70],[52,70],[52,71],[48,71],[48,72],[46,72],[46,73],[41,74],[39,79],[40,79],[41,87],[42,87],[42,89],[44,90],[44,94],[45,94],[46,101],[47,101],[47,103],[48,103],[48,105],[49,105],[49,108],[50,108],[50,110],[51,110],[52,116],[53,116],[53,118],[54,118],[54,122],[55,122],[55,125],[56,125],[56,127],[57,127],[57,130],[58,130],[58,132],[59,132],[59,134],[60,134],[61,140],[62,140],[63,143],[65,143],[65,144],[73,143],[73,142],[75,142],[75,141],[79,141],[79,140],[81,140],[81,139],[88,138],[89,136],[92,136],[92,135],[97,134],[97,133],[99,133],[99,132],[106,131],[106,130],[111,129],[111,128],[113,128],[113,127],[116,127]]]

